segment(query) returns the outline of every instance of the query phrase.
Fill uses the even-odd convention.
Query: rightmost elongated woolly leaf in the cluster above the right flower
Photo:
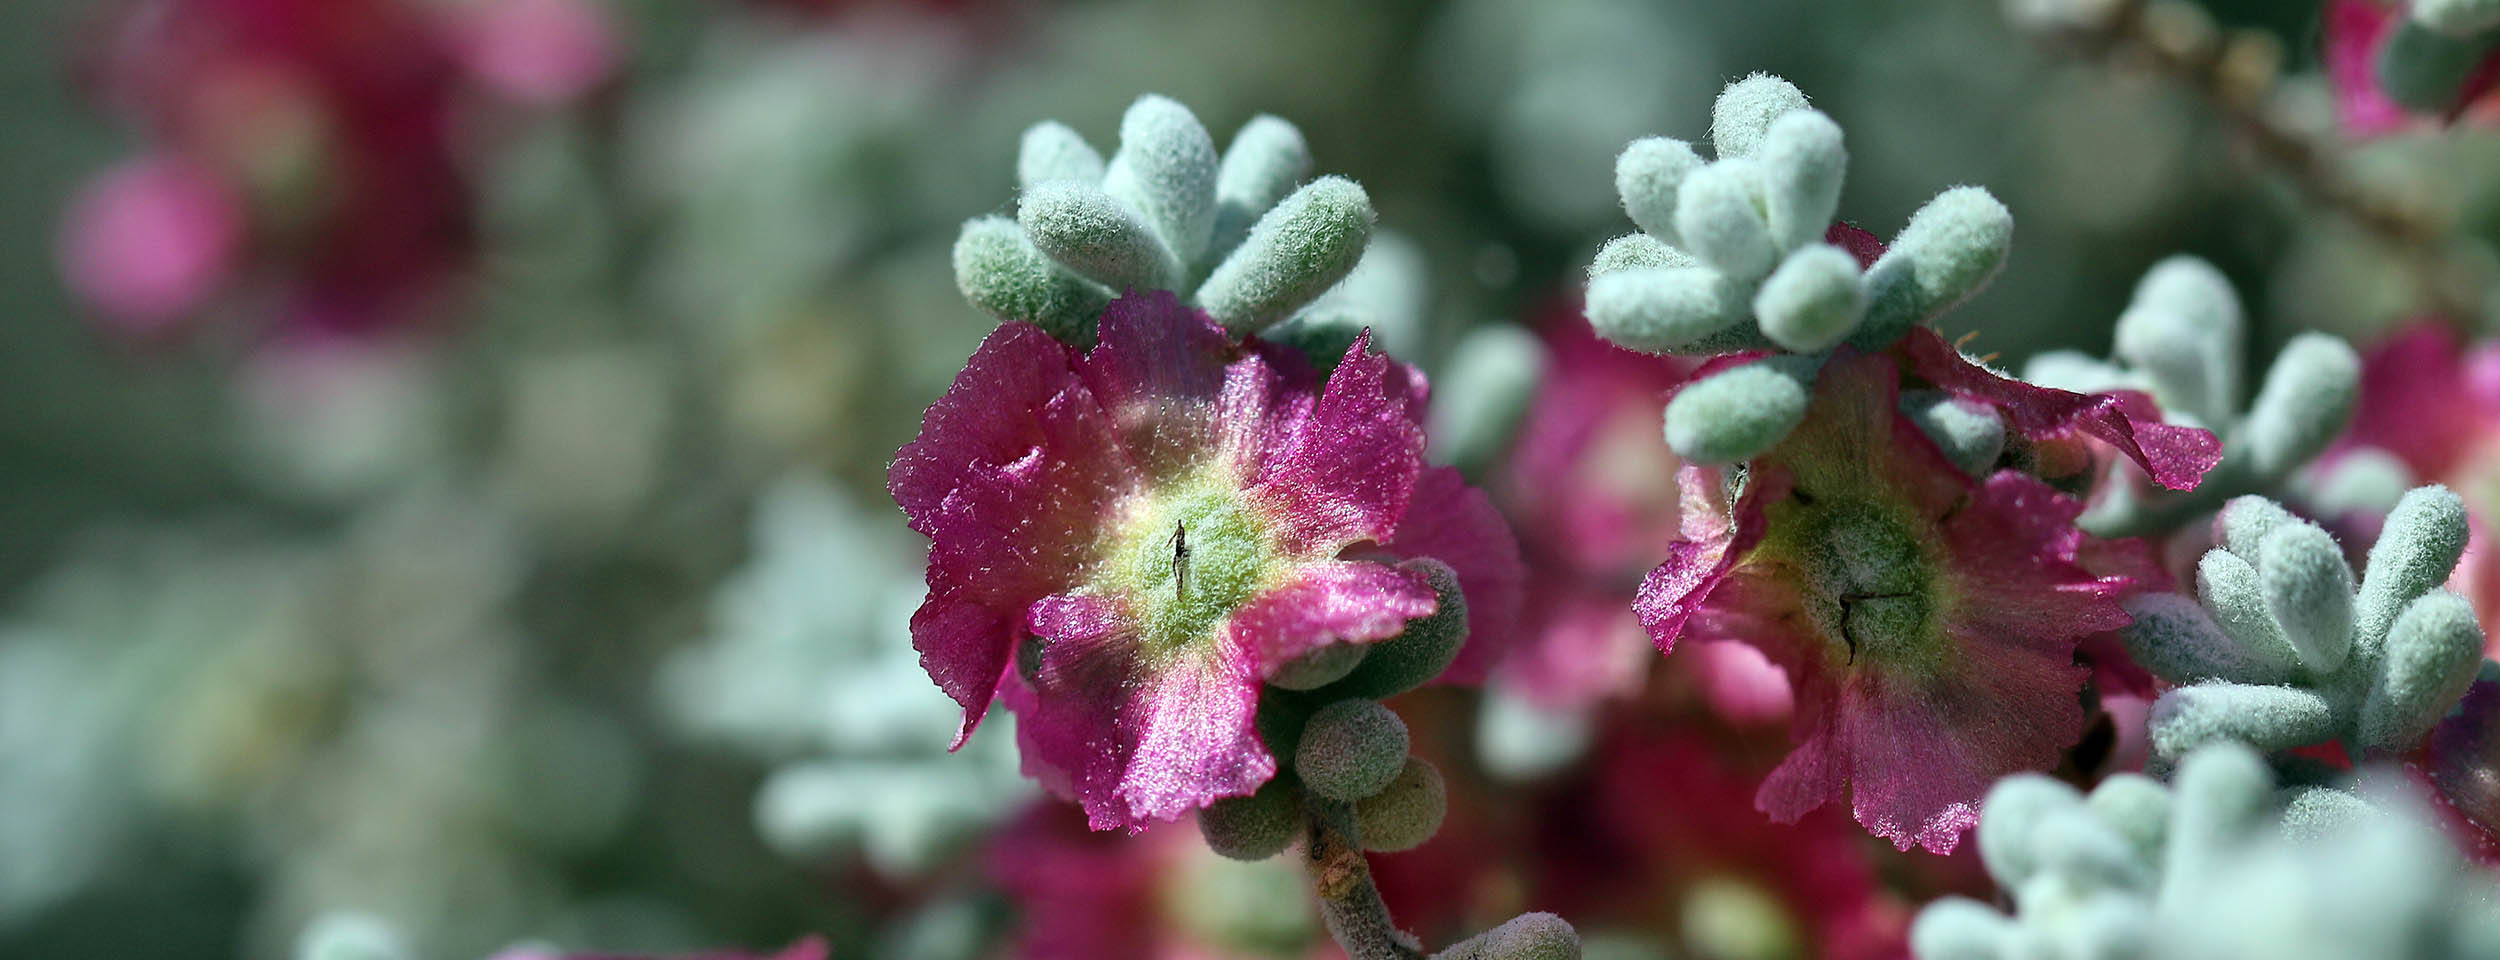
[[[2012,240],[2015,218],[1988,190],[1935,195],[1868,270],[1868,318],[1850,342],[1890,345],[1910,325],[1970,300],[2005,265]]]

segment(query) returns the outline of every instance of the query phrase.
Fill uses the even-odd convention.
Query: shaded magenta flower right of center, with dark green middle
[[[2082,565],[2072,498],[2018,470],[1955,470],[1898,412],[1902,368],[2025,435],[2110,442],[2162,482],[2192,485],[2212,438],[2172,435],[2125,398],[1992,382],[1912,330],[1895,352],[1828,362],[1805,422],[1750,462],[1732,505],[1715,472],[1685,468],[1685,540],[1638,612],[1660,650],[1740,640],[1788,670],[1798,745],[1755,802],[1798,820],[1848,785],[1868,830],[1950,852],[1995,778],[2080,738],[2075,648],[2128,622],[2130,582]]]

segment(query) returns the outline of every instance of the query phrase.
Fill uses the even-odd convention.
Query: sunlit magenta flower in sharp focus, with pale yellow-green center
[[[1168,292],[1112,302],[1090,352],[1002,325],[888,482],[932,540],[912,642],[962,735],[1005,698],[1025,772],[1140,830],[1275,775],[1252,715],[1278,668],[1438,608],[1398,558],[1458,570],[1468,648],[1500,655],[1518,548],[1422,465],[1422,400],[1370,338],[1322,388]]]

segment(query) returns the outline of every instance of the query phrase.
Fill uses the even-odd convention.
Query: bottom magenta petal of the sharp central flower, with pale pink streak
[[[1125,615],[1085,595],[1035,602],[1030,628],[1040,665],[1005,688],[1025,772],[1075,792],[1095,830],[1145,830],[1275,775],[1252,728],[1258,658],[1230,632],[1145,655]]]

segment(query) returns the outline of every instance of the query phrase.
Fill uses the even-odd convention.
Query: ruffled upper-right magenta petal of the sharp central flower
[[[1252,495],[1270,502],[1288,552],[1388,542],[1422,472],[1422,425],[1405,365],[1355,338],[1305,422],[1265,462]]]

